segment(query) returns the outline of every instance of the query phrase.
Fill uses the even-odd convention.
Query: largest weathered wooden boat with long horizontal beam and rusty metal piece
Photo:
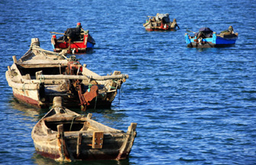
[[[76,57],[41,49],[32,39],[31,49],[8,66],[5,73],[13,95],[21,102],[47,108],[54,96],[62,96],[66,107],[110,108],[128,75],[115,71],[99,76],[83,66]]]

